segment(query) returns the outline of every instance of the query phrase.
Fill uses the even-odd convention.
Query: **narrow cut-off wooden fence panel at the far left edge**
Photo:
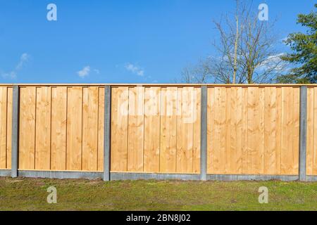
[[[12,86],[0,86],[0,169],[11,169]]]

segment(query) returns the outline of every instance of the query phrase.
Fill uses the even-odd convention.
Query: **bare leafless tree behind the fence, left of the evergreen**
[[[276,51],[278,37],[273,34],[275,21],[261,21],[252,2],[236,0],[234,15],[213,20],[220,37],[213,42],[216,56],[209,56],[187,77],[204,77],[204,81],[225,84],[273,82],[285,65]],[[202,74],[204,73],[204,75]],[[199,80],[199,79],[197,79]],[[184,81],[185,82],[185,81]]]

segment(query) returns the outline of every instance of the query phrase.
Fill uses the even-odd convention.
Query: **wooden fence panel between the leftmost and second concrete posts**
[[[19,168],[103,171],[104,88],[20,87]]]

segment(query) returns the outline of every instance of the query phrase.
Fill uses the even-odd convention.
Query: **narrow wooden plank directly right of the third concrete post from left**
[[[215,88],[207,88],[207,174],[213,174],[214,172],[214,118],[215,118]]]

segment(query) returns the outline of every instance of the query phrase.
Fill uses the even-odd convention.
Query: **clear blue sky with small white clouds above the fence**
[[[46,20],[56,4],[57,21]],[[268,4],[280,39],[315,1]],[[0,0],[1,83],[169,83],[213,54],[213,19],[233,0]],[[287,47],[278,44],[280,52]]]

